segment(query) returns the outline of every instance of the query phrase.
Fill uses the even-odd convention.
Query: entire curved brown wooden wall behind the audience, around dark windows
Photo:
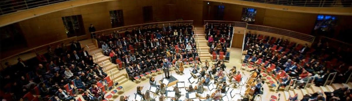
[[[96,30],[112,28],[109,17],[110,10],[123,10],[124,26],[159,21],[175,21],[177,19],[194,20],[195,25],[201,25],[203,20],[214,20],[214,12],[209,10],[209,7],[225,5],[223,19],[225,21],[240,21],[242,9],[250,7],[220,2],[211,2],[208,5],[207,2],[202,0],[112,0],[59,10],[17,23],[23,31],[28,48],[33,48],[68,38],[61,19],[64,16],[82,15],[86,38],[90,38],[88,27],[91,23],[94,24]],[[145,22],[143,20],[142,7],[144,6],[152,6],[152,21]],[[257,9],[256,22],[254,24],[293,30],[305,34],[310,34],[318,15],[258,7],[251,8]],[[351,16],[337,17],[340,26],[336,28],[337,32],[335,33],[342,29],[341,26],[347,26],[347,29],[351,28],[348,27],[352,23]]]

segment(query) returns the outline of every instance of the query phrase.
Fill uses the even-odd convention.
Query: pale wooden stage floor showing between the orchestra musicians
[[[226,63],[226,62],[225,62],[225,65],[227,66],[226,71],[228,72],[228,71],[232,68],[232,66],[236,66],[236,67],[237,67],[237,70],[239,71],[239,70],[240,70],[240,67],[241,67],[241,63],[240,63],[240,59],[241,59],[241,49],[238,49],[238,48],[231,48],[231,55],[230,55],[230,56],[231,56],[231,57],[230,57],[230,62],[229,62],[229,63]],[[190,85],[190,83],[188,82],[188,78],[191,77],[190,70],[191,70],[190,67],[185,68],[183,75],[176,74],[175,71],[172,71],[172,72],[170,72],[170,73],[172,73],[172,76],[175,77],[175,78],[177,78],[178,81],[184,81],[184,82],[185,82],[185,86],[188,87],[188,86]],[[245,75],[242,74],[242,76],[243,76],[243,81],[245,81],[245,80],[247,80],[247,78],[249,77],[249,72],[244,71],[244,70],[243,70],[243,72],[245,73]],[[163,75],[164,75],[164,73],[155,75],[155,76],[154,76],[154,77],[155,77],[155,80],[157,80],[157,81],[161,80],[161,79],[163,78]],[[226,79],[228,79],[228,78],[226,77]],[[211,81],[211,82],[214,82],[214,79],[212,79],[212,80],[210,80],[210,81]],[[228,80],[226,80],[226,81],[229,82]],[[228,83],[228,84],[229,84],[229,83]],[[159,82],[157,83],[157,85],[159,85]],[[192,86],[194,87],[195,85],[196,85],[196,84],[193,83]],[[130,95],[131,97],[130,97],[129,101],[132,101],[132,100],[134,100],[134,93],[137,93],[137,91],[136,91],[137,86],[144,86],[142,92],[145,93],[146,90],[149,90],[150,84],[149,84],[149,79],[145,79],[144,81],[138,82],[138,83],[132,82],[132,81],[127,81],[126,83],[122,84],[121,86],[123,86],[123,87],[125,88],[125,92],[122,93],[122,95],[126,95],[126,96]],[[175,86],[175,85],[173,85],[173,86]],[[216,85],[214,85],[214,86],[216,86]],[[278,95],[278,93],[276,93],[276,92],[269,91],[268,84],[264,84],[264,85],[263,85],[263,88],[264,88],[264,95],[263,95],[262,100],[260,100],[260,99],[258,98],[258,99],[256,99],[255,101],[269,101],[271,95],[276,95],[276,96]],[[172,86],[167,88],[167,90],[172,90],[172,89],[173,89]],[[227,92],[227,95],[228,95],[229,97],[230,97],[230,91],[232,91],[232,89],[233,89],[233,92],[236,92],[236,93],[239,93],[240,90],[241,90],[241,94],[243,95],[246,88],[245,88],[245,86],[243,86],[242,88],[240,88],[240,87],[239,87],[239,88],[232,88],[232,87],[230,87],[230,89],[229,89],[228,92]],[[180,100],[184,100],[184,99],[185,99],[185,96],[186,96],[185,94],[186,94],[187,92],[186,92],[186,90],[185,90],[184,88],[180,88],[180,91],[182,92],[182,93],[181,93],[182,96],[181,96]],[[213,91],[214,91],[214,90],[213,90]],[[212,92],[213,92],[213,91],[212,91]],[[209,92],[208,88],[207,88],[206,86],[204,86],[204,93],[201,94],[201,95],[202,95],[203,97],[205,97],[206,94],[210,94],[210,93],[211,93],[211,92]],[[281,93],[281,95],[283,95],[283,92],[279,92],[279,93]],[[151,96],[152,96],[153,98],[156,97],[157,99],[155,99],[155,100],[156,100],[156,101],[159,101],[159,99],[158,99],[159,96],[158,96],[158,95],[154,95],[154,94],[151,93]],[[117,94],[115,94],[114,98],[115,98],[114,101],[119,101],[119,98],[118,98]],[[235,95],[233,98],[230,97],[230,99],[231,99],[231,101],[237,101],[238,99],[241,99],[241,98],[240,98],[240,95],[237,94],[237,95]],[[194,101],[199,101],[198,99],[193,99],[193,100],[194,100]],[[204,99],[201,99],[201,100],[204,100]],[[165,101],[170,101],[170,100],[167,99],[167,100],[165,100]]]

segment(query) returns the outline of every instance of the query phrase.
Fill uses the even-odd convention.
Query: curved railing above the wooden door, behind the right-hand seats
[[[260,26],[260,25],[256,25],[256,24],[248,24],[246,22],[204,20],[204,23],[215,23],[215,24],[225,23],[225,24],[231,24],[234,27],[244,27],[244,28],[249,29],[249,30],[265,31],[265,32],[269,32],[269,33],[274,33],[274,34],[294,37],[294,38],[301,39],[303,41],[307,41],[307,42],[311,42],[311,43],[313,43],[314,38],[315,38],[312,35],[303,34],[303,33],[299,33],[299,32],[296,32],[296,31],[280,29],[280,28],[275,28],[275,27],[268,27],[268,26]]]

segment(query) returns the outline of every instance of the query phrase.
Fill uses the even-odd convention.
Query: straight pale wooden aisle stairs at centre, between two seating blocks
[[[207,45],[207,40],[205,39],[205,33],[203,27],[195,27],[195,38],[197,42],[197,48],[199,51],[199,57],[202,62],[208,60],[210,62],[211,55],[209,53],[209,46]]]

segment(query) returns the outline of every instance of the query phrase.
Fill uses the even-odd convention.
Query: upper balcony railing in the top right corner
[[[243,0],[275,5],[303,7],[352,7],[352,0]]]

